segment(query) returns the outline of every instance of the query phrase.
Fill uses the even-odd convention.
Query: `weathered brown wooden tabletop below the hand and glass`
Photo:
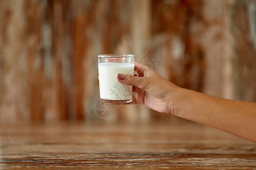
[[[188,121],[0,125],[0,169],[256,168],[256,144]]]

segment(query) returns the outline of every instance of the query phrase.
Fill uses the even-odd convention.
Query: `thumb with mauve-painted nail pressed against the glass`
[[[142,90],[146,90],[146,87],[148,85],[148,79],[146,77],[141,76],[134,76],[131,74],[117,74],[117,80],[118,82],[122,84],[126,84],[128,86],[136,86],[138,88],[141,88]]]

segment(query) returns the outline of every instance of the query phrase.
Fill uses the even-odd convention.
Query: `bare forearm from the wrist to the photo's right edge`
[[[172,114],[256,142],[256,103],[222,99],[179,88]]]

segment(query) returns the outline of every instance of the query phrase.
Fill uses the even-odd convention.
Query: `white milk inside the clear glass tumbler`
[[[100,97],[105,100],[131,100],[133,86],[117,81],[117,73],[134,74],[133,63],[105,62],[98,64]]]

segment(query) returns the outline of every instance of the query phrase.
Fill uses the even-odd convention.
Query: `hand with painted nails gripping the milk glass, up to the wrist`
[[[134,86],[135,96],[131,103],[144,104],[158,112],[174,112],[174,91],[179,87],[141,63],[135,62],[134,70],[137,72],[134,75],[117,74],[120,83]]]

